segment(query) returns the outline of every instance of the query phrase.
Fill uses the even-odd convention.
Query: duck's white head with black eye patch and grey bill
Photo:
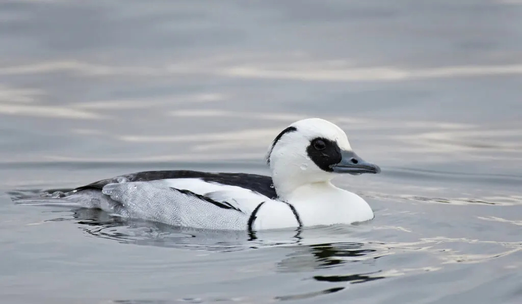
[[[296,121],[271,143],[266,160],[281,199],[309,184],[330,183],[337,174],[380,173],[353,152],[346,133],[321,118]]]

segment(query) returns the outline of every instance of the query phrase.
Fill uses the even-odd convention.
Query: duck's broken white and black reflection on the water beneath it
[[[72,217],[57,217],[48,221],[74,220],[79,224],[80,229],[91,236],[133,245],[204,249],[219,252],[266,249],[271,246],[284,247],[291,249],[292,253],[277,263],[277,270],[282,273],[306,273],[337,267],[347,262],[368,263],[371,260],[383,257],[383,255],[379,255],[378,250],[372,248],[372,245],[363,242],[310,244],[310,241],[316,238],[317,233],[327,234],[329,228],[315,230],[311,240],[303,236],[302,231],[298,234],[293,232],[288,234],[281,232],[257,233],[258,235],[252,238],[247,232],[209,231],[172,227],[145,221],[129,221],[99,210],[76,209],[72,212]],[[288,237],[292,234],[294,235],[293,238]],[[381,271],[350,275],[317,275],[313,278],[319,282],[364,283],[385,278],[379,273]],[[276,297],[276,299],[309,298],[320,294],[334,293],[342,289],[344,287],[329,288],[312,293]]]

